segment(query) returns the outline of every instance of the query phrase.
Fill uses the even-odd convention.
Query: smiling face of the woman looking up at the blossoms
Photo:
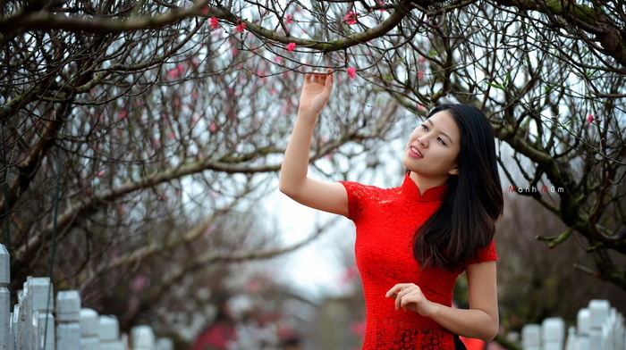
[[[459,173],[456,160],[461,132],[448,111],[433,114],[410,133],[402,164],[428,179],[448,179]]]

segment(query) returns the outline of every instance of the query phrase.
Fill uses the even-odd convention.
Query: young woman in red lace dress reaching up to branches
[[[503,194],[486,116],[444,104],[414,129],[402,154],[401,187],[309,179],[310,139],[333,87],[331,71],[305,76],[280,189],[300,204],[354,221],[366,301],[363,349],[462,348],[458,336],[498,332],[495,221]],[[469,309],[452,307],[467,272]]]

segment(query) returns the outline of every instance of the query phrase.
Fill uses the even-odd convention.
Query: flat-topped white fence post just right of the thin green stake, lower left
[[[56,295],[56,348],[80,350],[80,294],[76,290]]]

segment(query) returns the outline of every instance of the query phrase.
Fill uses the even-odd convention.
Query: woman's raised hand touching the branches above
[[[333,70],[326,73],[314,71],[304,76],[304,85],[300,94],[300,112],[322,112],[333,90]]]

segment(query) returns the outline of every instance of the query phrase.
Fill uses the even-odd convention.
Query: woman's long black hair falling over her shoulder
[[[453,116],[461,133],[459,174],[448,179],[439,209],[415,234],[413,255],[422,269],[453,270],[489,245],[495,221],[503,212],[503,192],[495,157],[495,139],[485,113],[466,104],[442,104],[433,109]]]

